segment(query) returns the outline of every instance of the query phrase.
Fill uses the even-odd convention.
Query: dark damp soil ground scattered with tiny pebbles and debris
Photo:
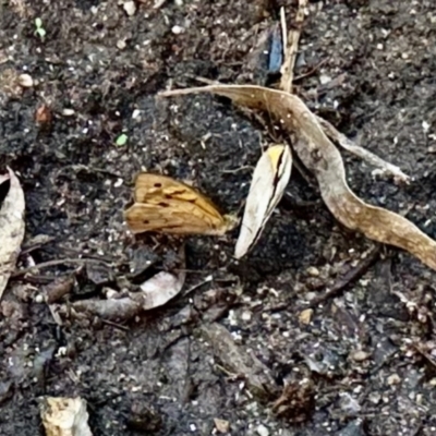
[[[305,324],[310,298],[347,280],[374,244],[339,226],[296,170],[243,261],[232,258],[237,230],[186,239],[184,292],[165,307],[59,325],[36,301],[57,277],[74,278],[64,303],[120,291],[134,259],[165,246],[136,241],[123,223],[141,168],[193,181],[240,211],[270,141],[225,99],[155,97],[198,85],[194,76],[265,84],[262,35],[280,5],[291,23],[294,1],[145,1],[132,16],[122,3],[0,0],[0,165],[19,173],[26,196],[29,249],[19,267],[109,265],[60,263],[11,280],[0,311],[0,434],[43,435],[38,398],[49,395],[85,398],[97,436],[227,425],[231,435],[436,435],[434,271],[382,247]],[[351,187],[435,239],[434,1],[313,1],[299,50],[295,93],[413,177],[396,184],[344,155]],[[33,86],[16,84],[23,73]],[[37,235],[50,239],[35,245]]]

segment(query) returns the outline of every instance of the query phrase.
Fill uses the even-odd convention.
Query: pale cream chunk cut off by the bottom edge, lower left
[[[86,401],[77,398],[46,397],[40,416],[47,436],[93,436]]]

